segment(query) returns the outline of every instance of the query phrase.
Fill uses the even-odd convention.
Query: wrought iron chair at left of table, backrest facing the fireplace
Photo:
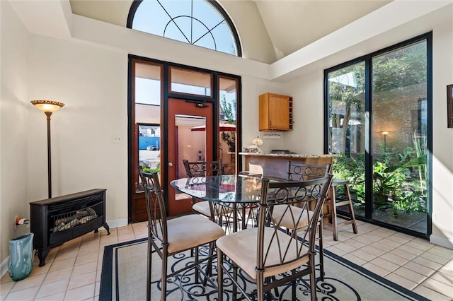
[[[167,220],[164,191],[161,189],[157,172],[149,174],[139,167],[139,175],[145,192],[148,212],[148,257],[147,257],[147,300],[151,300],[151,254],[156,252],[161,257],[161,300],[166,300],[167,278],[175,276],[190,268],[196,268],[195,281],[198,282],[198,275],[202,273],[205,281],[209,271],[202,271],[200,264],[208,261],[206,266],[210,269],[214,257],[215,241],[225,235],[219,225],[199,214],[190,214]],[[151,183],[151,184],[150,184]],[[151,193],[152,192],[152,193]],[[180,268],[178,271],[167,273],[168,257],[186,250],[192,250],[202,245],[209,244],[210,252],[202,259],[195,256],[195,262]],[[153,250],[154,249],[154,250]]]

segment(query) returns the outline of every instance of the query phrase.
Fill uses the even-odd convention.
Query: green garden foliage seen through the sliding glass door
[[[372,59],[374,108],[391,101],[395,93],[413,98],[411,88],[427,81],[427,43],[387,52]],[[329,73],[331,127],[342,129],[341,141],[329,138],[331,151],[343,153],[333,163],[334,177],[348,179],[356,208],[365,207],[365,151],[344,155],[351,117],[365,124],[365,62]],[[409,88],[408,88],[409,87]],[[418,98],[418,95],[416,96]],[[374,210],[398,213],[427,211],[427,146],[425,129],[413,133],[413,146],[398,153],[381,153],[372,166]],[[343,147],[343,149],[341,149]],[[394,151],[394,150],[392,150]],[[359,152],[362,152],[360,150]]]

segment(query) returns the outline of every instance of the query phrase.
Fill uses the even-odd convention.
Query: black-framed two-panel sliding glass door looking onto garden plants
[[[430,33],[326,70],[326,152],[359,218],[430,235]]]

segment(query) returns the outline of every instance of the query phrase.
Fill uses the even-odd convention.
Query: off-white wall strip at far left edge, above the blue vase
[[[28,31],[8,2],[0,1],[0,16],[0,262],[3,263],[9,254],[8,240],[30,232],[25,225],[15,229],[13,223],[16,215],[28,216],[30,211],[27,189],[29,121],[28,110],[25,110],[30,100]],[[4,269],[4,264],[1,269]]]

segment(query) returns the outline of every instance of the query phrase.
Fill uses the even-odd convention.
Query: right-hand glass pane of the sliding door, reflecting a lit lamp
[[[372,218],[426,233],[427,42],[372,58]]]

